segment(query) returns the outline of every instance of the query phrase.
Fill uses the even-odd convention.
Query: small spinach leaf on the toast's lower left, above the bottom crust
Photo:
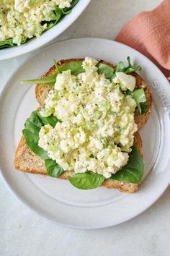
[[[59,164],[56,163],[56,161],[53,161],[52,159],[45,159],[45,168],[48,172],[48,175],[52,177],[58,177],[64,173],[63,168],[59,166]]]

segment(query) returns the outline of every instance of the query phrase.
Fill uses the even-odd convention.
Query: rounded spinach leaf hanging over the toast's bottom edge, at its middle
[[[91,171],[87,171],[84,174],[75,174],[68,179],[78,189],[94,189],[104,182],[104,176]]]

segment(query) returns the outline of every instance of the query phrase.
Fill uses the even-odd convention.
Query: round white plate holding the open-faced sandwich
[[[133,195],[100,187],[76,189],[68,181],[14,170],[14,153],[27,116],[37,107],[35,85],[19,82],[40,77],[53,59],[92,56],[112,63],[141,64],[141,75],[153,90],[153,109],[141,130],[145,161],[144,181]],[[4,180],[30,208],[58,224],[79,229],[98,229],[127,221],[146,210],[164,192],[170,180],[170,88],[164,74],[145,56],[112,40],[79,38],[48,46],[28,59],[6,84],[1,95],[1,173]],[[147,176],[147,179],[146,179]]]

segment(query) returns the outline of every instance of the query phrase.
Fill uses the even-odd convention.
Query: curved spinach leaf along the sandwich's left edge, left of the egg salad
[[[47,151],[39,147],[39,132],[42,126],[50,124],[55,127],[59,120],[55,116],[42,117],[39,111],[33,111],[31,116],[25,121],[22,133],[28,147],[42,159],[48,159]]]

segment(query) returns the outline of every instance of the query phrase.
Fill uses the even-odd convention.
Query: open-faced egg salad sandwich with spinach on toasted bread
[[[138,130],[151,111],[151,90],[128,57],[67,59],[37,83],[40,107],[24,124],[14,166],[19,171],[68,179],[79,189],[138,190],[143,148]]]

